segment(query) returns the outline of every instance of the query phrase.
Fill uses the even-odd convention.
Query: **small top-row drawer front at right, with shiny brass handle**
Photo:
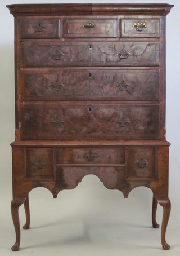
[[[160,37],[160,20],[123,19],[122,37]]]

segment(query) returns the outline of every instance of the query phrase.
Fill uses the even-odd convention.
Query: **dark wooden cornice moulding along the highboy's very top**
[[[7,5],[13,16],[52,15],[162,15],[166,16],[174,5],[166,3],[122,4],[19,4]]]

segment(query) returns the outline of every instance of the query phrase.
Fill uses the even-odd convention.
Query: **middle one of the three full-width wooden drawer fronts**
[[[23,74],[24,100],[158,100],[159,70],[58,69]]]

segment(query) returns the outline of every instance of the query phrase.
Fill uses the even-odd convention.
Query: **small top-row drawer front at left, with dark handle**
[[[21,19],[20,38],[59,38],[59,19]]]

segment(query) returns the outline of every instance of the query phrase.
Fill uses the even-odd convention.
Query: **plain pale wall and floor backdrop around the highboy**
[[[91,1],[108,3],[110,1]],[[113,1],[126,3],[127,1]],[[164,1],[128,1],[164,3]],[[14,61],[11,3],[89,3],[89,1],[5,1],[0,2],[0,254],[10,255],[15,241],[11,220],[11,147],[14,140]],[[169,197],[172,213],[167,242],[161,249],[160,229],[151,228],[150,189],[134,189],[128,199],[119,191],[106,189],[100,180],[86,176],[73,191],[62,191],[56,200],[47,189],[30,192],[31,229],[21,232],[20,255],[180,255],[180,1],[167,16],[167,140],[170,146]],[[158,208],[158,222],[162,209]],[[20,208],[21,226],[24,211]]]

